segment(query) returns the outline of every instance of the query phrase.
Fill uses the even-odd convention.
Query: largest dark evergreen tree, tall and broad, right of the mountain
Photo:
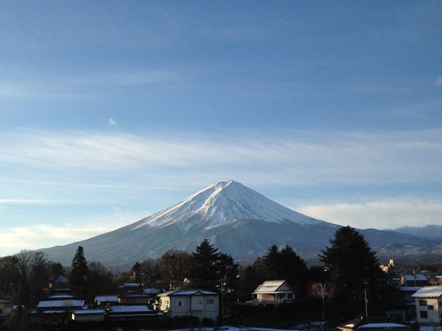
[[[337,230],[329,242],[331,246],[319,255],[320,261],[329,268],[334,288],[347,298],[347,311],[352,312],[359,306],[360,313],[365,303],[364,288],[369,285],[374,292],[381,277],[376,253],[363,235],[349,226]]]

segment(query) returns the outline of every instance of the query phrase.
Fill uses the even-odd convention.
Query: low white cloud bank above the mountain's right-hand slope
[[[442,225],[442,201],[415,198],[381,199],[360,203],[307,205],[299,212],[356,228],[398,228],[404,225]]]

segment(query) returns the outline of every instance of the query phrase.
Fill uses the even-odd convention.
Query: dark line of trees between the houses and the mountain
[[[23,304],[36,303],[44,298],[48,282],[64,275],[78,295],[90,300],[97,294],[117,292],[118,285],[127,281],[143,283],[145,288],[222,288],[227,311],[232,314],[235,304],[250,301],[253,290],[266,280],[286,280],[296,293],[296,301],[311,302],[309,309],[315,307],[315,316],[322,319],[360,316],[366,292],[373,302],[382,299],[378,286],[382,272],[376,254],[363,235],[350,227],[336,231],[319,255],[322,264],[310,268],[290,245],[272,245],[251,265],[240,266],[208,240],[191,253],[168,250],[158,259],[136,261],[131,270],[116,274],[97,261],[87,261],[85,255],[79,246],[70,267],[29,250],[3,257],[0,295]],[[371,310],[380,307],[370,305]]]

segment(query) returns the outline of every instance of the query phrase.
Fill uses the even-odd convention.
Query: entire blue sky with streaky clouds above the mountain
[[[234,179],[442,224],[440,1],[2,1],[0,255]]]

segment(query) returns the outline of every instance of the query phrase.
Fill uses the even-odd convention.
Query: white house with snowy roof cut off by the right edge
[[[421,325],[441,325],[442,286],[425,286],[412,295],[416,318]]]

